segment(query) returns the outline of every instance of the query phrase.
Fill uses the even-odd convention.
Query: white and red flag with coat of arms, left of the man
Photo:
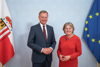
[[[0,0],[0,62],[5,65],[14,56],[10,13],[5,0]]]

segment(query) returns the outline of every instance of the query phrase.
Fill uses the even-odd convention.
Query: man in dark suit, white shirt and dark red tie
[[[52,51],[55,48],[56,41],[53,27],[47,25],[48,12],[40,11],[40,23],[30,29],[28,46],[33,50],[33,67],[51,67]]]

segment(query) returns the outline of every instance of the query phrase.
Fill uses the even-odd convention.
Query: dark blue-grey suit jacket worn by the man
[[[41,53],[42,48],[52,47],[54,49],[56,45],[53,27],[47,25],[47,32],[48,38],[46,41],[40,24],[31,27],[27,45],[33,50],[33,63],[42,63],[46,57],[48,61],[52,61],[52,53],[50,55]]]

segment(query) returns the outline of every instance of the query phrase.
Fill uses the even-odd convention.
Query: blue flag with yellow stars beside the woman
[[[83,39],[100,63],[100,0],[94,0],[85,22]]]

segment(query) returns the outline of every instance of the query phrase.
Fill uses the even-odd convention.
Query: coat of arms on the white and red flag
[[[0,19],[0,41],[7,37],[12,30],[11,19],[9,17]]]

